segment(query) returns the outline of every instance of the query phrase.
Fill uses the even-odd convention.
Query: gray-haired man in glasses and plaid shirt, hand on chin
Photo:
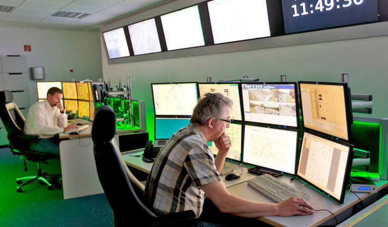
[[[219,173],[231,147],[225,134],[232,101],[220,93],[207,93],[194,108],[190,124],[172,135],[151,169],[144,195],[156,214],[192,210],[194,226],[219,226],[201,220],[205,194],[221,213],[239,217],[290,216],[314,213],[302,198],[281,203],[258,203],[229,194]],[[213,156],[207,142],[214,142]]]

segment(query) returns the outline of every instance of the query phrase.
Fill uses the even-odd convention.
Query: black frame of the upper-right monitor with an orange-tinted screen
[[[335,85],[335,86],[342,86],[344,90],[344,101],[345,101],[345,115],[346,115],[346,124],[347,124],[347,131],[348,131],[348,139],[340,138],[335,135],[325,133],[316,129],[312,129],[305,126],[305,121],[303,117],[303,105],[302,105],[302,93],[301,93],[301,84],[318,84],[318,85]],[[299,100],[301,102],[301,116],[302,116],[302,127],[303,130],[313,131],[317,134],[320,134],[323,137],[328,137],[335,141],[341,141],[345,143],[352,143],[352,124],[353,124],[353,117],[352,116],[352,102],[351,102],[351,95],[348,83],[346,82],[324,82],[324,81],[298,81],[298,89],[299,89]]]

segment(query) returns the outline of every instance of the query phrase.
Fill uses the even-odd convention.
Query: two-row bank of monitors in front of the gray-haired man
[[[343,202],[353,158],[347,83],[179,82],[151,87],[155,139],[169,139],[189,124],[193,108],[206,93],[222,93],[233,102],[232,122],[225,130],[232,142],[228,159],[298,175]],[[166,122],[174,130],[167,132]],[[208,145],[217,155],[215,143]]]

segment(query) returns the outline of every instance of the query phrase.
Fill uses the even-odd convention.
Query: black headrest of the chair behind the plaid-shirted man
[[[91,139],[93,143],[106,143],[115,137],[116,114],[110,106],[99,107],[93,119],[91,127]]]

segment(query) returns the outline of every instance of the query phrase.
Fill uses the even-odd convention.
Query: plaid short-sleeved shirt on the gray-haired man
[[[157,215],[192,210],[199,217],[205,199],[201,186],[220,180],[204,134],[190,124],[173,134],[160,151],[144,195]]]

